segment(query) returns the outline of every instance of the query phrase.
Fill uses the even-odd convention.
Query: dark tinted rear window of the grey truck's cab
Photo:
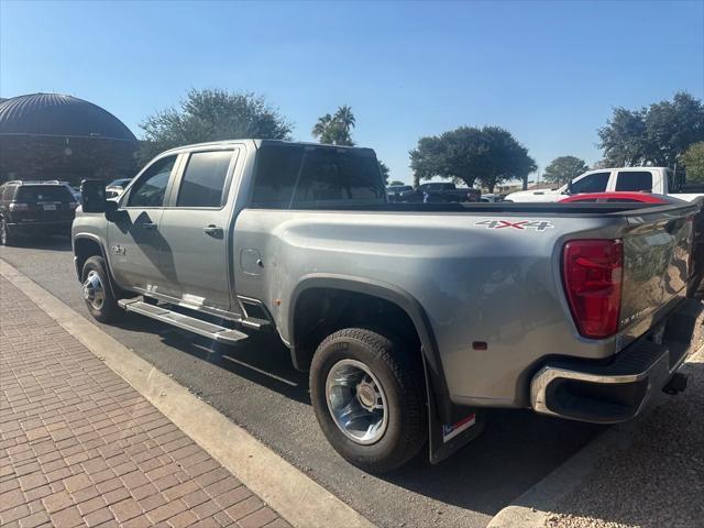
[[[252,207],[323,209],[386,202],[372,151],[314,145],[262,145]]]

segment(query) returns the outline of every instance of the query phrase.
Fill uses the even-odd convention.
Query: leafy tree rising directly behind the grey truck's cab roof
[[[206,141],[290,139],[292,125],[263,97],[221,89],[190,90],[178,108],[147,117],[140,158],[146,162],[174,146]]]

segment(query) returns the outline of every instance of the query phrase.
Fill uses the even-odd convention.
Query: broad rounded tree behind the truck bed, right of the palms
[[[439,176],[472,187],[479,180],[490,193],[502,182],[526,180],[537,168],[528,150],[498,127],[460,127],[439,136],[421,138],[409,154],[416,182]]]

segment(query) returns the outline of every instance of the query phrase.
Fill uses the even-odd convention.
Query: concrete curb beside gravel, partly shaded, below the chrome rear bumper
[[[691,355],[703,352],[704,345]],[[646,409],[646,415],[667,397],[662,394],[656,396]],[[627,450],[631,446],[640,421],[642,420],[620,424],[604,431],[542,481],[503,508],[492,518],[487,528],[544,528],[556,506],[588,476],[596,462],[615,450]]]

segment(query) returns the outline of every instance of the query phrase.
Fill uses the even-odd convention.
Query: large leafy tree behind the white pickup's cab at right
[[[639,110],[616,108],[598,135],[610,166],[673,167],[692,143],[704,141],[704,105],[679,92]]]

